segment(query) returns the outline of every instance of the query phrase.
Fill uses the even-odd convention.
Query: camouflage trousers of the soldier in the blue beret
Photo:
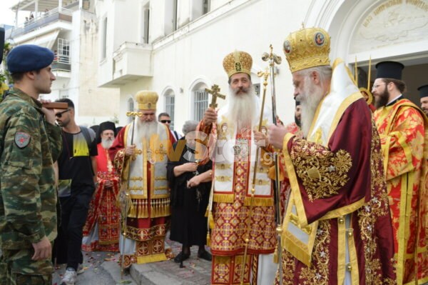
[[[0,285],[51,285],[51,259],[31,260],[34,249],[1,249]]]

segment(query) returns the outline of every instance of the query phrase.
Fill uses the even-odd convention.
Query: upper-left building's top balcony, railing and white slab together
[[[6,39],[13,39],[15,44],[38,44],[31,40],[61,29],[71,31],[71,14],[72,11],[65,8],[52,9],[16,28],[7,30]]]

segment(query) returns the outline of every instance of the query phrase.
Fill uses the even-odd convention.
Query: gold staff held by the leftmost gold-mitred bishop
[[[141,112],[129,111],[126,112],[126,116],[133,117],[132,119],[132,132],[131,132],[131,145],[133,145],[133,135],[134,129],[136,126],[136,117],[140,117],[143,114]],[[122,243],[122,254],[121,254],[121,278],[123,278],[123,270],[124,264],[123,256],[125,251],[125,243],[126,243],[126,216],[128,216],[129,210],[132,206],[131,195],[129,194],[129,180],[131,179],[131,158],[128,159],[128,179],[126,180],[126,184],[121,186],[121,191],[118,195],[119,204],[121,205],[121,227],[122,227],[122,235],[123,235],[123,243]],[[126,186],[126,187],[124,187]]]

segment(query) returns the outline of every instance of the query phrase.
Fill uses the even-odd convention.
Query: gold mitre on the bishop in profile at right
[[[287,36],[285,58],[291,72],[330,65],[330,35],[321,28],[304,28]]]

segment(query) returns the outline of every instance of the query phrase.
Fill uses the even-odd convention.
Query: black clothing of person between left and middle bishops
[[[180,141],[185,142],[185,138]],[[183,142],[182,142],[183,143]],[[175,149],[177,143],[173,144]],[[193,149],[184,147],[180,161],[168,161],[168,182],[171,189],[171,231],[170,239],[184,246],[204,245],[207,237],[207,218],[205,211],[210,197],[211,182],[200,183],[196,187],[187,188],[187,181],[195,176],[195,172],[185,172],[175,177],[173,169],[188,162],[195,162]],[[198,166],[198,174],[212,169],[209,161]]]

